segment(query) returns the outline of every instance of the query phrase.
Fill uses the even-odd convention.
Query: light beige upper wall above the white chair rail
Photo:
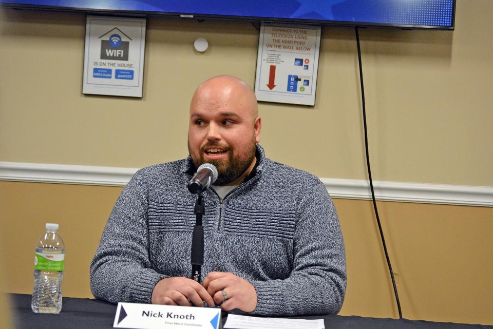
[[[493,2],[458,0],[456,30],[363,29],[374,179],[493,186]],[[186,155],[197,84],[254,83],[248,22],[149,18],[144,97],[81,94],[85,15],[5,10],[0,161],[142,167]],[[204,54],[195,38],[210,42]],[[272,159],[319,177],[364,179],[354,30],[324,27],[315,107],[262,103]],[[96,147],[94,147],[96,146]]]

